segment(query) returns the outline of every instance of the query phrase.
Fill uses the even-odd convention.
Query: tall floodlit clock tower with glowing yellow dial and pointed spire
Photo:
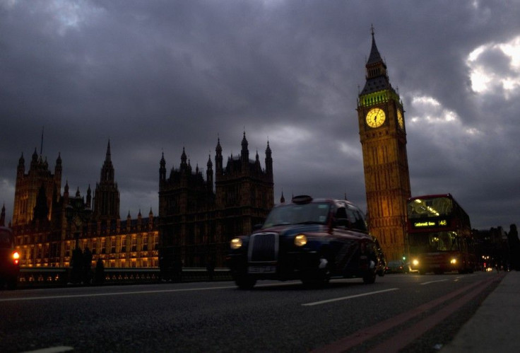
[[[373,27],[372,49],[365,67],[366,83],[357,110],[367,219],[370,233],[378,238],[386,260],[399,260],[408,256],[406,199],[410,197],[410,175],[406,127],[403,103],[390,84]]]

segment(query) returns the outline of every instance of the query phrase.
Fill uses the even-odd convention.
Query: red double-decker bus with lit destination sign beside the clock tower
[[[407,209],[412,270],[473,272],[476,257],[469,216],[450,194],[411,197]]]

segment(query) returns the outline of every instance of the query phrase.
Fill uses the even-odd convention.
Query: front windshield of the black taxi
[[[275,207],[267,216],[263,228],[285,224],[326,224],[331,204],[287,204]]]

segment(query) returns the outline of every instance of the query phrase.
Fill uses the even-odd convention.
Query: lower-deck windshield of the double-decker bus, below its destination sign
[[[438,253],[441,251],[456,251],[459,248],[459,237],[454,231],[439,231],[432,233],[411,233],[410,253]]]

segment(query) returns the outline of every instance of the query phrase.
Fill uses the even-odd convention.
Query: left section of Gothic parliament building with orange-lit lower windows
[[[86,200],[79,189],[70,195],[68,183],[63,195],[60,189],[60,156],[54,174],[36,151],[25,174],[25,161],[20,157],[10,226],[22,267],[69,267],[76,246],[93,253],[92,265],[101,258],[105,267],[158,267],[158,219],[152,210],[148,219],[141,212],[137,219],[130,214],[126,220],[119,218],[110,141],[94,199],[90,186]]]

